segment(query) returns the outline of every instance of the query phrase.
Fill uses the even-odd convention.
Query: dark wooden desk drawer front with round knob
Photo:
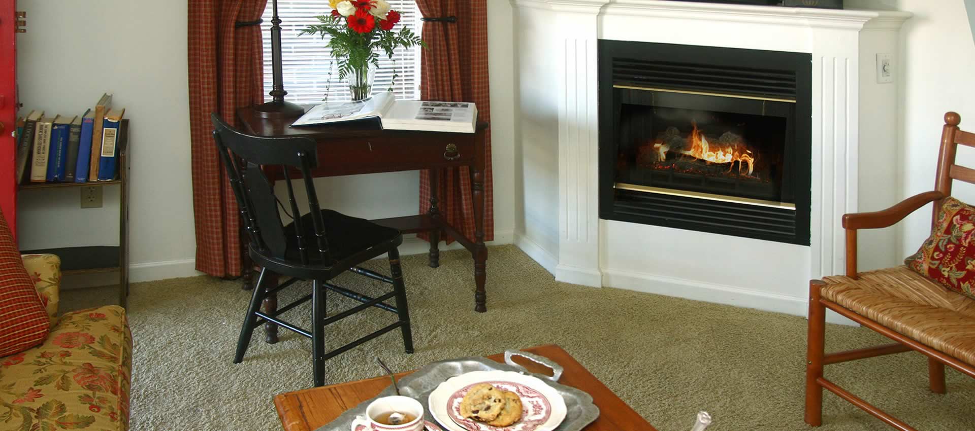
[[[384,138],[341,140],[319,145],[318,175],[427,169],[471,165],[475,160],[474,134],[451,139]]]

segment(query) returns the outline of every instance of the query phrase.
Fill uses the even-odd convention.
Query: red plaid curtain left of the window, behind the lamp
[[[216,112],[236,124],[239,107],[263,101],[259,25],[267,0],[189,0],[189,116],[196,224],[196,269],[241,274],[244,254],[237,202],[211,132]]]

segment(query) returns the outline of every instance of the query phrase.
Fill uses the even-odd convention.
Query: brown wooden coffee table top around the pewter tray
[[[599,378],[589,373],[562,347],[555,344],[539,345],[525,351],[545,356],[565,368],[559,382],[581,389],[593,396],[593,403],[600,408],[600,417],[585,428],[586,431],[656,431],[643,417],[612,393]],[[499,353],[488,359],[504,362]],[[517,358],[521,359],[521,358]],[[547,369],[533,362],[518,360],[532,373],[546,373]],[[412,372],[400,373],[404,377]],[[382,392],[390,384],[389,377],[372,377],[365,380],[332,384],[331,386],[286,392],[274,397],[278,416],[286,431],[314,431],[339,414],[352,409]]]

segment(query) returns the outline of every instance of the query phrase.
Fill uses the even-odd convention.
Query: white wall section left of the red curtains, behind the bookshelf
[[[190,194],[186,3],[149,0],[20,0],[24,110],[81,115],[102,92],[131,120],[130,260],[189,275],[195,253]],[[148,13],[151,11],[151,13]],[[20,194],[25,249],[118,244],[118,186],[104,206],[80,209],[78,189]]]

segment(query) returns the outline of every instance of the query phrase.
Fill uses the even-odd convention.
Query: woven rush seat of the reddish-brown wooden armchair
[[[823,298],[975,365],[975,300],[904,266],[824,280]]]

